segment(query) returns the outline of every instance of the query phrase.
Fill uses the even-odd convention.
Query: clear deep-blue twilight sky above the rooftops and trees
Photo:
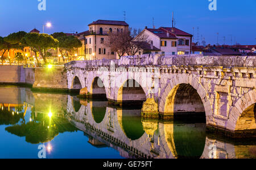
[[[44,32],[82,32],[97,19],[123,20],[133,28],[171,26],[174,11],[176,27],[190,34],[199,27],[207,44],[256,44],[256,0],[216,0],[217,11],[210,11],[208,0],[46,0],[46,11],[38,10],[38,0],[1,0],[0,36],[18,31],[29,32],[37,28],[42,32],[43,24],[52,23]],[[232,44],[233,44],[232,43]]]

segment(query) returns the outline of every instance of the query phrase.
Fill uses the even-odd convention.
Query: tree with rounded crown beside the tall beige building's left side
[[[57,38],[59,40],[59,43],[57,44],[57,47],[60,49],[61,57],[63,57],[63,61],[65,61],[63,53],[72,53],[75,48],[82,47],[82,43],[79,39],[77,39],[75,36],[60,36]]]

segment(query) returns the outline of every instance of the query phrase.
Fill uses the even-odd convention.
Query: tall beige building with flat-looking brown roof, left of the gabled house
[[[97,20],[88,25],[89,30],[77,34],[82,47],[77,49],[77,56],[84,60],[117,59],[118,55],[104,41],[110,32],[123,32],[129,24],[119,20]]]

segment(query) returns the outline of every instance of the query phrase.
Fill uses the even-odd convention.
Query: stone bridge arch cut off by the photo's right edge
[[[228,122],[226,128],[231,131],[245,130],[240,127],[241,121],[247,121],[247,129],[255,129],[255,105],[256,105],[256,89],[250,90],[249,92],[243,94],[237,102],[234,104],[229,112]],[[254,112],[254,118],[248,119],[246,114],[248,112]],[[247,118],[246,118],[247,117]],[[245,120],[246,118],[247,120]],[[245,125],[245,122],[243,123]],[[252,126],[251,126],[252,125]],[[245,126],[244,126],[245,127]]]

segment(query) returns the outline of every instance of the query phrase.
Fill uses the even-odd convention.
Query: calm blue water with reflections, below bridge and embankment
[[[0,87],[0,158],[256,158],[256,142],[227,142],[204,121],[141,118],[106,101]]]

